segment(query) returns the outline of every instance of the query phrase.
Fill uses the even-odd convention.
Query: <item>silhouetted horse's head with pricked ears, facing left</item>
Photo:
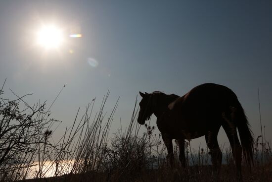
[[[145,92],[140,93],[140,96],[142,97],[140,105],[140,111],[138,116],[138,123],[144,124],[145,121],[150,119],[150,116],[153,114],[152,111],[152,95]]]

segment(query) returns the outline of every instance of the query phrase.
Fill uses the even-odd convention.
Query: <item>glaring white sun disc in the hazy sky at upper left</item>
[[[46,49],[59,48],[63,42],[63,33],[54,25],[44,25],[37,34],[37,42]]]

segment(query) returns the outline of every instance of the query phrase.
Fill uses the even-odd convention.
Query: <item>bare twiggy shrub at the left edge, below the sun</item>
[[[18,96],[10,90],[15,99],[4,98],[3,86],[0,90],[0,179],[15,181],[27,177],[38,154],[43,159],[48,156],[46,148],[53,147],[48,142],[52,132],[48,126],[56,120],[48,119],[50,113],[45,111],[45,102],[27,104],[25,99],[31,94]]]

